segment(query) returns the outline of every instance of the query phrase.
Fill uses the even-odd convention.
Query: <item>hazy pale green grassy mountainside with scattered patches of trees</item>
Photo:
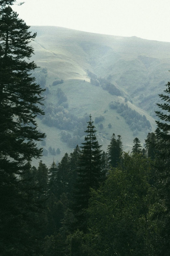
[[[143,145],[155,129],[158,94],[169,80],[170,43],[53,26],[31,31],[37,32],[32,59],[41,67],[33,75],[47,88],[46,115],[37,119],[47,134],[45,162],[60,161],[81,145],[90,113],[105,151],[113,133],[122,136],[125,151],[135,137]],[[50,146],[61,154],[47,152]]]

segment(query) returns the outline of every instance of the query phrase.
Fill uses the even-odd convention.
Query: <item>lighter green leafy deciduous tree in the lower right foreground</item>
[[[89,234],[82,242],[91,255],[158,255],[159,222],[154,216],[155,189],[149,185],[150,164],[140,155],[123,156],[121,166],[111,170],[103,187],[92,191]],[[155,204],[154,204],[155,203]]]

